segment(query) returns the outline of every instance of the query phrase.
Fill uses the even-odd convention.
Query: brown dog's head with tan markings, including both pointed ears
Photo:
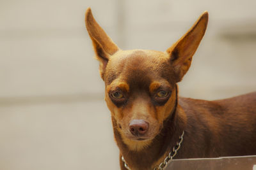
[[[121,50],[86,11],[86,28],[100,61],[105,100],[114,129],[131,149],[149,145],[175,108],[176,83],[189,69],[207,27],[204,12],[193,27],[165,52]]]

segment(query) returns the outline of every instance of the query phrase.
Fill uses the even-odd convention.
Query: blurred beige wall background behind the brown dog
[[[209,11],[180,95],[256,90],[256,1],[1,0],[0,169],[119,169],[84,12],[122,49],[166,50]]]

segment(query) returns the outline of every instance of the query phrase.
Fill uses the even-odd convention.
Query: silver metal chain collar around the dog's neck
[[[175,155],[177,154],[177,151],[180,149],[181,143],[183,141],[184,131],[182,131],[182,134],[179,137],[179,142],[176,143],[176,145],[173,147],[171,152],[168,153],[168,156],[165,157],[164,161],[159,164],[159,166],[154,167],[153,170],[163,170],[163,168],[168,164],[168,161],[173,159]],[[128,170],[131,170],[127,163],[124,160],[124,157],[122,156],[122,161],[124,162],[124,167]]]

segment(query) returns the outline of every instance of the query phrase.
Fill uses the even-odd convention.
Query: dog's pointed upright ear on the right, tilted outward
[[[177,75],[177,82],[181,81],[184,74],[187,73],[196,48],[204,36],[207,22],[208,12],[205,11],[198,18],[193,27],[191,27],[179,41],[166,50],[170,55],[172,66]]]

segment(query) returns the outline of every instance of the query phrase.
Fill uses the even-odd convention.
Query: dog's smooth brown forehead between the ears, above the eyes
[[[170,77],[170,59],[167,53],[153,50],[120,51],[111,56],[106,71],[106,84],[123,80],[129,85],[146,85]]]

